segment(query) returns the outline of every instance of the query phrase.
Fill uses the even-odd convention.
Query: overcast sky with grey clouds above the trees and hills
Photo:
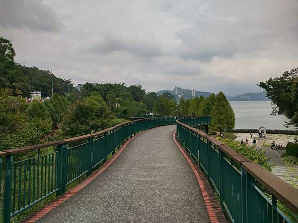
[[[0,0],[0,36],[75,84],[237,95],[298,66],[298,0]]]

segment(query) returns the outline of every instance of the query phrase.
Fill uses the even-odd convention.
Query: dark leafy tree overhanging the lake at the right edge
[[[260,82],[258,86],[264,89],[266,96],[276,105],[271,114],[284,114],[290,119],[287,125],[298,128],[298,67],[284,72],[280,77]]]

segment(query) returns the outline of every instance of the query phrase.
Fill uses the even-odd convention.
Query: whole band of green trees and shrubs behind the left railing
[[[234,127],[234,113],[222,92],[177,104],[172,94],[146,93],[141,84],[85,83],[79,92],[71,80],[53,75],[52,96],[50,71],[21,66],[14,56],[10,41],[0,37],[1,150],[92,133],[147,112],[211,115],[214,130]],[[28,104],[31,91],[51,98]]]

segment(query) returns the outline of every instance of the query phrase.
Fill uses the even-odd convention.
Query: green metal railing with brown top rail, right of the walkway
[[[177,120],[177,138],[215,188],[234,223],[290,223],[277,200],[298,214],[298,190],[223,142],[200,131],[210,119]],[[199,128],[199,129],[198,129]],[[208,129],[208,128],[207,128]],[[208,132],[208,130],[206,131]],[[261,190],[268,191],[267,197]]]

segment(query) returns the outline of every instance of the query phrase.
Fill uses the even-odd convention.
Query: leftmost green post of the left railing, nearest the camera
[[[4,223],[10,223],[12,161],[13,161],[12,155],[6,155],[5,183],[4,183],[4,209],[3,209]]]

